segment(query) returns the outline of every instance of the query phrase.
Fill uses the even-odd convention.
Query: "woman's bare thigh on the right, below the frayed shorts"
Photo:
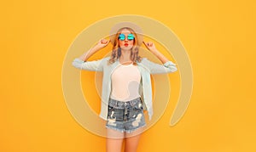
[[[136,152],[143,127],[131,133],[125,133],[125,152]]]

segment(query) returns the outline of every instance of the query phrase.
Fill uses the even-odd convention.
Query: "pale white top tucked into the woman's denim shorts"
[[[139,84],[141,81],[140,71],[137,65],[121,65],[113,70],[111,99],[129,101],[137,99],[139,95]]]

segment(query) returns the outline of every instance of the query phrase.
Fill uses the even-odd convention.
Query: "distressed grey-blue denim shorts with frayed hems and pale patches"
[[[106,127],[119,132],[130,133],[145,126],[141,98],[132,99],[131,101],[109,99]]]

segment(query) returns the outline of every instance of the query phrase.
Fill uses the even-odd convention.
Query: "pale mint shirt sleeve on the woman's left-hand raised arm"
[[[73,59],[72,65],[80,70],[93,70],[102,71],[103,59],[93,60],[93,61],[83,61],[82,59]]]

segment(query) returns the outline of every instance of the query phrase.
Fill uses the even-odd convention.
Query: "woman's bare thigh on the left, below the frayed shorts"
[[[107,136],[107,152],[120,152],[125,133],[107,128]]]

